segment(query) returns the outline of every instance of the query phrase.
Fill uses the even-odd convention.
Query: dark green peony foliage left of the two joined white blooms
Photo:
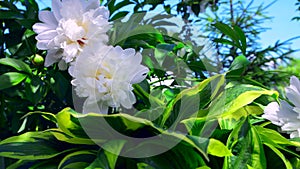
[[[28,112],[72,106],[69,75],[44,68],[46,53],[35,47],[38,11],[33,0],[0,2],[0,139],[53,126],[38,115],[21,119]]]

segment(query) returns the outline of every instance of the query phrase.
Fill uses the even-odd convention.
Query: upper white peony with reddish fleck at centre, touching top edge
[[[107,43],[109,11],[99,0],[53,0],[52,12],[40,11],[42,23],[33,25],[37,48],[47,50],[45,66],[59,62],[60,69],[91,43]]]

